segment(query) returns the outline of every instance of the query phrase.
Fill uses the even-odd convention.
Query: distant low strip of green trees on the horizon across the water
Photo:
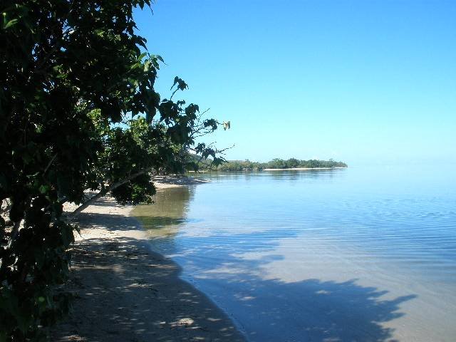
[[[202,166],[204,163],[202,163]],[[336,162],[330,160],[298,160],[290,158],[289,160],[283,160],[275,158],[269,162],[251,162],[249,160],[229,160],[222,162],[221,165],[214,167],[212,170],[217,171],[261,171],[264,169],[294,169],[299,167],[305,168],[317,168],[317,167],[347,167],[345,162]],[[204,168],[204,167],[201,167]]]

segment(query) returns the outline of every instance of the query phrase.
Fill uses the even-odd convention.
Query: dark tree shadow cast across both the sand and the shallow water
[[[112,231],[138,229],[133,217],[115,214],[81,214],[81,225],[89,222],[103,222]],[[199,237],[193,239],[190,245],[198,246]],[[415,298],[391,298],[388,291],[361,286],[356,279],[263,279],[237,272],[240,261],[247,269],[261,269],[281,255],[246,261],[241,260],[244,247],[199,246],[190,258],[201,254],[214,270],[205,274],[204,291],[234,313],[249,341],[396,341],[384,323],[403,316],[401,304]],[[274,250],[274,244],[257,246],[251,248]],[[217,306],[179,278],[179,266],[150,252],[143,240],[84,239],[73,254],[70,289],[78,299],[53,341],[242,341]]]

